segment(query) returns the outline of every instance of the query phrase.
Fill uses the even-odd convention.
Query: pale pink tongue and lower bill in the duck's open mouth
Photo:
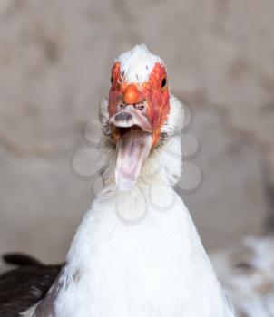
[[[117,142],[115,181],[123,190],[129,190],[140,175],[144,161],[152,147],[152,134],[141,129],[129,130]]]

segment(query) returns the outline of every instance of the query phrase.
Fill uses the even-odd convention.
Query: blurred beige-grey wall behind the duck
[[[113,58],[137,43],[187,105],[182,182],[194,185],[179,191],[205,247],[271,232],[273,12],[272,0],[1,0],[0,254],[64,260],[100,182],[88,122]]]

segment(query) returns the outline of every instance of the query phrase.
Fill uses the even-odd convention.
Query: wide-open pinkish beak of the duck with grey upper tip
[[[152,126],[138,107],[127,105],[109,120],[116,139],[115,181],[129,190],[140,176],[152,148]]]

